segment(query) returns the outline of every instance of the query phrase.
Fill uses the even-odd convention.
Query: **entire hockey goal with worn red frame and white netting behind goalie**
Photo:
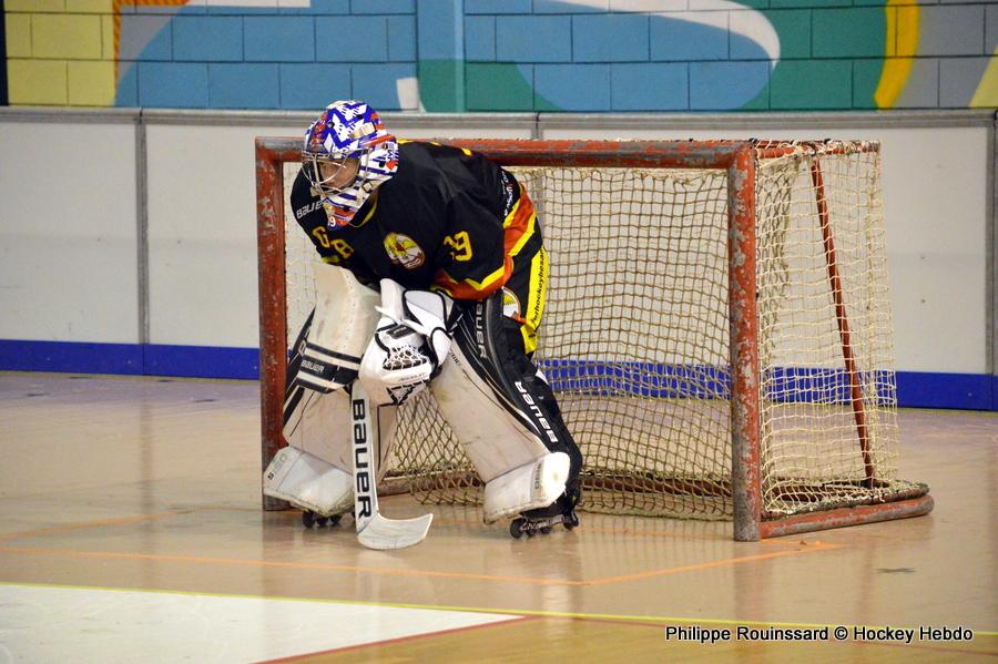
[[[877,143],[447,142],[533,200],[550,259],[536,358],[585,458],[581,509],[732,519],[743,541],[931,510],[897,478]],[[285,205],[299,165],[298,140],[257,139],[264,467],[314,302],[316,254]],[[384,488],[480,502],[431,391],[398,419]]]

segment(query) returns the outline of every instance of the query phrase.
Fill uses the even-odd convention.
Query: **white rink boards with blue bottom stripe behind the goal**
[[[0,110],[0,368],[253,378],[253,140],[308,113]],[[408,137],[876,139],[900,395],[995,408],[995,120],[387,113]]]

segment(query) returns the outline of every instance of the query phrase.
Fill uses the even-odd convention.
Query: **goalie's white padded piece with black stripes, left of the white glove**
[[[296,380],[330,392],[349,385],[377,325],[378,294],[343,267],[315,263],[315,316]]]

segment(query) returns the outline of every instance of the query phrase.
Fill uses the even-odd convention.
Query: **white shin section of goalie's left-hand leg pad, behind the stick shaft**
[[[353,419],[347,390],[320,394],[296,386],[289,402],[284,423],[287,443],[346,473],[352,472]],[[378,409],[379,471],[388,468],[388,454],[395,442],[397,410],[394,406]]]

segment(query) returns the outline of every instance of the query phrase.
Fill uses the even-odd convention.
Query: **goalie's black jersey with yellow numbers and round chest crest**
[[[361,282],[387,277],[407,288],[482,299],[515,274],[525,278],[542,249],[526,191],[469,150],[399,141],[398,171],[376,194],[349,226],[337,228],[303,172],[291,194],[295,218],[323,261]]]

